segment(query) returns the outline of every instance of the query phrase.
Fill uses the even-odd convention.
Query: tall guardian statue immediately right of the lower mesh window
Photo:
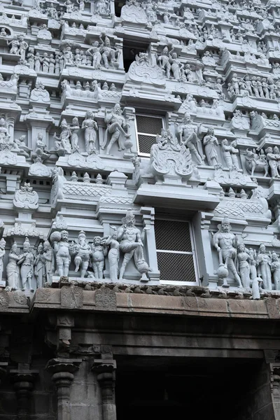
[[[214,234],[213,244],[214,248],[218,251],[219,263],[224,263],[224,267],[232,273],[238,286],[241,287],[241,279],[235,267],[235,258],[237,257],[237,236],[230,232],[230,230],[229,218],[224,217],[221,225],[218,225],[218,232]]]

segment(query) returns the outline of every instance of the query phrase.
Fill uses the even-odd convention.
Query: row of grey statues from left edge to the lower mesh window
[[[34,290],[52,284],[52,276],[68,276],[69,266],[73,259],[75,272],[80,278],[103,279],[106,258],[109,263],[110,279],[122,280],[128,262],[134,260],[134,265],[142,276],[151,271],[144,258],[144,237],[135,227],[135,218],[131,210],[127,211],[120,228],[111,227],[112,235],[94,237],[92,244],[87,241],[85,232],[78,234],[78,239],[69,242],[66,230],[55,231],[50,240],[38,245],[36,253],[32,251],[29,239],[23,243],[20,253],[18,244],[14,243],[8,254],[6,267],[7,290]],[[5,255],[5,239],[0,241],[0,279],[3,274],[3,257]],[[123,261],[119,269],[120,253]],[[92,268],[92,271],[88,271]],[[35,282],[34,282],[35,280]]]

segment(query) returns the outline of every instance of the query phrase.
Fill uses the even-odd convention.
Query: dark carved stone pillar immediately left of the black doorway
[[[103,420],[116,420],[115,380],[116,360],[96,359],[92,372],[97,373],[97,381],[102,391]]]

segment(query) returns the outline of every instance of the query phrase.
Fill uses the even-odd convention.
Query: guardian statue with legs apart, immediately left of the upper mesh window
[[[122,110],[120,108],[119,103],[117,103],[109,112],[107,112],[107,110],[105,109],[104,121],[107,124],[107,129],[104,137],[104,142],[100,145],[100,147],[104,150],[109,133],[111,134],[111,139],[106,148],[106,155],[109,155],[111,147],[113,146],[113,144],[116,143],[116,141],[118,142],[118,150],[124,150],[125,147],[123,146],[121,134],[123,134],[125,139],[130,139],[131,135],[125,132],[125,130],[127,130],[128,127],[130,127],[130,125],[127,123],[125,117],[122,116]]]

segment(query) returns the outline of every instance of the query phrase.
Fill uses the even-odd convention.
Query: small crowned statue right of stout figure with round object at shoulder
[[[75,272],[78,272],[80,269],[80,278],[83,279],[87,272],[88,265],[90,263],[90,246],[88,245],[87,238],[85,236],[85,232],[83,230],[80,231],[78,234],[78,239],[76,240],[76,244],[71,242],[70,246],[70,254],[75,255],[74,263],[75,263]]]

